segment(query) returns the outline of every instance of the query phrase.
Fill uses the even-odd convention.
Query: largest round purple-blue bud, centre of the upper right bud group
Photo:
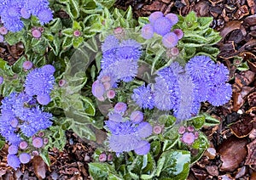
[[[153,25],[154,32],[160,36],[165,36],[172,29],[172,22],[166,17],[156,20]]]

